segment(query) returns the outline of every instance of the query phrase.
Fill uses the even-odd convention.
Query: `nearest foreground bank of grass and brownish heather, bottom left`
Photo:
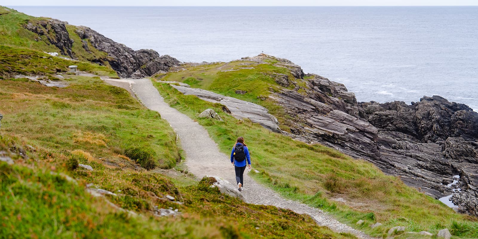
[[[4,133],[0,150],[2,157],[15,161],[0,162],[1,238],[355,238],[318,227],[312,218],[289,210],[224,196],[206,179],[199,183],[182,179],[183,185],[178,185],[162,174],[111,166],[71,172],[62,165],[65,155],[49,155]],[[76,181],[67,180],[65,174]],[[117,189],[117,196],[90,196],[85,191],[90,182]],[[184,204],[151,196],[163,194]],[[141,214],[120,211],[107,200]],[[172,207],[181,214],[153,216],[152,206]]]

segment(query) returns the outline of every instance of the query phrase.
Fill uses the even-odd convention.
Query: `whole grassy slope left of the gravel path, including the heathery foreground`
[[[164,168],[177,162],[169,124],[96,77],[67,80],[65,88],[0,80],[0,156],[15,162],[0,162],[1,238],[355,238],[290,210],[225,196],[209,179],[197,183],[175,170],[142,169],[125,155],[130,147],[152,149]],[[94,170],[74,169],[75,162]],[[92,197],[86,185],[117,195]],[[181,214],[156,217],[155,206]]]

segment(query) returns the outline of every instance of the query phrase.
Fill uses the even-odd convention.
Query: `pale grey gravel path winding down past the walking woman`
[[[114,80],[108,79],[107,82],[109,81]],[[124,82],[124,79],[118,81]],[[185,164],[189,172],[195,174],[198,178],[202,178],[205,175],[214,175],[222,177],[232,184],[236,182],[234,166],[229,161],[230,156],[219,152],[217,144],[209,137],[209,134],[201,125],[178,110],[169,107],[152,85],[151,80],[135,79],[132,81],[133,83],[130,86],[141,102],[147,108],[158,111],[161,117],[167,120],[174,131],[176,131],[181,141],[181,147],[186,155]],[[121,86],[126,87],[126,84]],[[250,147],[254,146],[250,145]],[[251,163],[254,165],[253,158]],[[321,226],[329,227],[337,232],[348,232],[361,239],[371,239],[365,233],[338,222],[322,210],[282,198],[271,189],[258,184],[250,178],[247,174],[249,171],[249,169],[246,169],[244,174],[244,190],[242,193],[251,203],[288,208],[301,214],[307,213],[314,217],[317,224]]]

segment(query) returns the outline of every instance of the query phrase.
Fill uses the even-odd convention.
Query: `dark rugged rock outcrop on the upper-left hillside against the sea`
[[[36,33],[37,41],[47,41],[60,49],[61,54],[78,59],[73,49],[74,41],[66,30],[67,22],[56,19],[30,21],[23,25],[25,29]],[[141,49],[134,51],[124,44],[116,43],[88,27],[79,26],[75,33],[81,39],[83,49],[91,54],[89,61],[101,65],[110,65],[120,77],[141,78],[157,72],[168,71],[178,66],[179,61],[169,55],[160,56],[156,51]],[[95,49],[91,49],[91,47]],[[95,52],[102,54],[94,54]]]

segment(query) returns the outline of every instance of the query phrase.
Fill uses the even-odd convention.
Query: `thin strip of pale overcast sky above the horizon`
[[[3,6],[476,6],[478,0],[1,0]]]

